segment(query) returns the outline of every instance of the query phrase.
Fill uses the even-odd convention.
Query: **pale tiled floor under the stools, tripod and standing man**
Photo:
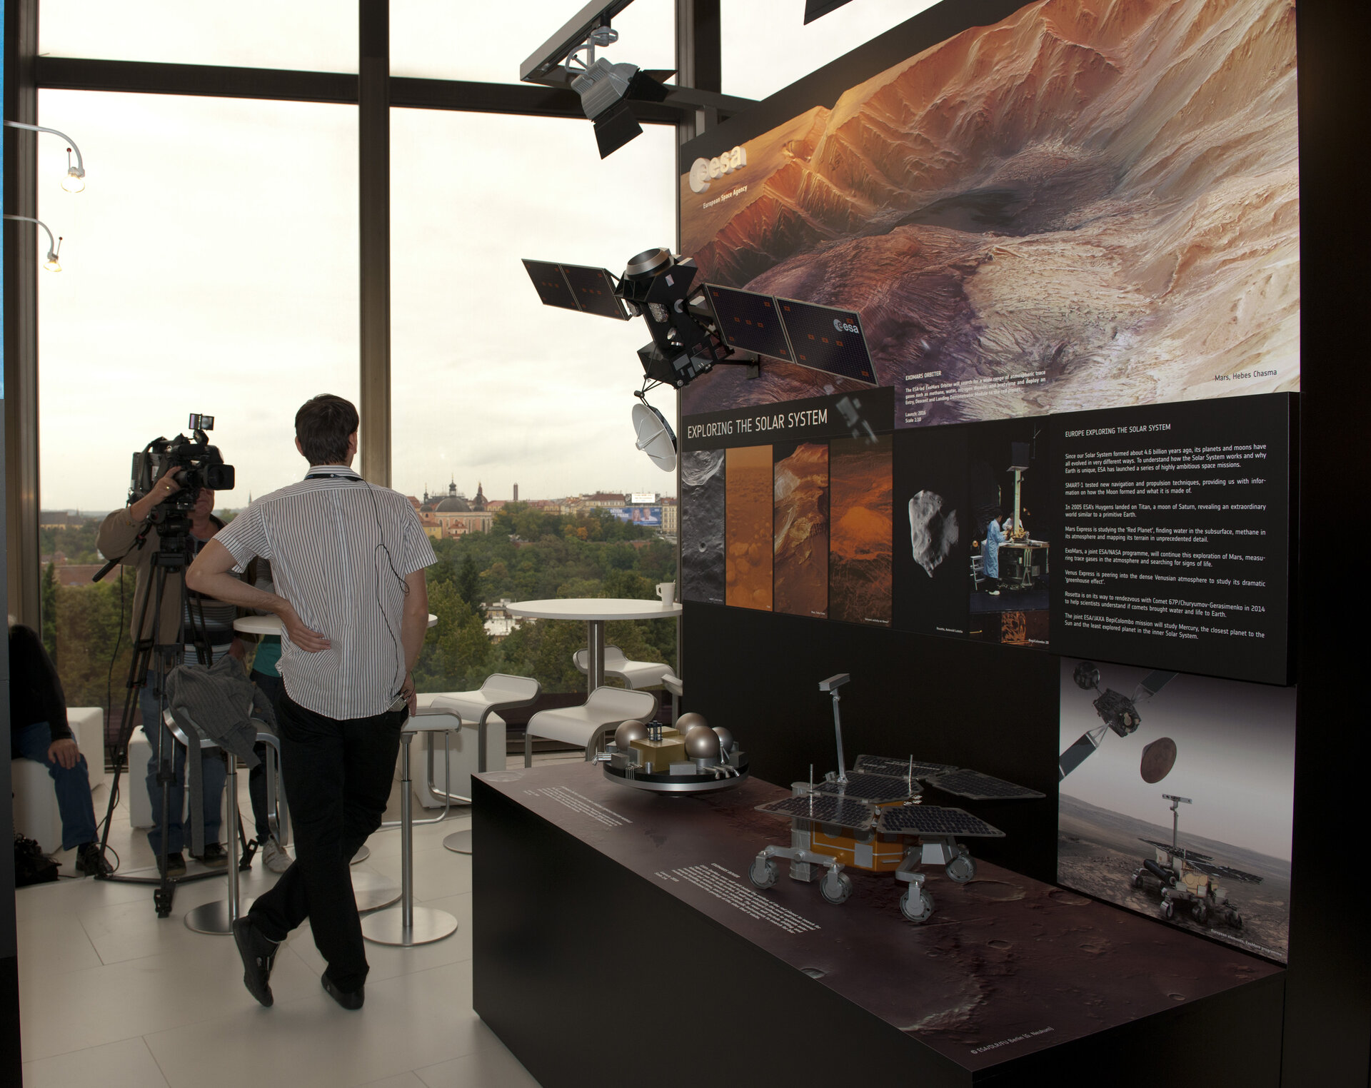
[[[558,758],[580,756],[539,762]],[[247,776],[239,781],[248,811]],[[398,798],[388,818],[398,817]],[[103,799],[97,793],[97,817]],[[424,813],[415,807],[415,814]],[[191,907],[223,895],[222,880],[181,887],[171,917],[162,919],[145,885],[85,878],[21,888],[26,1088],[536,1088],[472,1011],[472,859],[443,848],[447,834],[470,824],[458,808],[414,829],[417,900],[454,914],[458,930],[417,948],[367,943],[372,973],[359,1013],[339,1009],[319,987],[324,962],[308,925],[277,956],[276,1004],[258,1006],[243,988],[233,940],[185,928]],[[129,826],[123,804],[110,841],[122,871],[152,866],[147,836]],[[372,856],[355,867],[398,884],[398,832],[377,832],[369,845]],[[74,855],[62,861],[71,871]],[[255,863],[243,895],[271,880]]]

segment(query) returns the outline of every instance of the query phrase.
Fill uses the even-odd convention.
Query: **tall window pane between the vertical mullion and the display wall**
[[[673,245],[675,166],[670,127],[647,126],[600,160],[587,122],[392,111],[392,478],[429,499],[441,560],[421,689],[474,687],[496,670],[553,692],[583,688],[570,658],[584,623],[509,633],[498,603],[648,597],[675,578],[664,533],[675,507],[633,503],[676,486],[633,448],[647,330],[542,306],[520,262],[620,273],[632,255]],[[673,392],[651,399],[675,421]],[[633,506],[668,525],[624,519]],[[670,621],[610,625],[609,641],[629,658],[675,659]]]

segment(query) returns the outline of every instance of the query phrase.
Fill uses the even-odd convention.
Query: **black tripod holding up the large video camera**
[[[162,514],[159,518],[158,515]],[[175,741],[169,740],[165,725],[166,713],[166,678],[167,673],[177,665],[181,658],[184,648],[186,645],[193,645],[196,651],[196,658],[200,665],[210,665],[213,660],[213,651],[210,650],[208,636],[204,628],[204,608],[195,600],[197,608],[186,608],[188,591],[185,586],[185,570],[191,565],[195,556],[195,545],[191,537],[191,523],[189,518],[184,511],[169,510],[162,511],[160,508],[154,508],[154,511],[144,519],[143,525],[138,528],[137,537],[133,545],[123,554],[108,563],[106,563],[92,578],[92,581],[100,581],[106,574],[108,574],[118,563],[121,563],[128,555],[145,547],[148,540],[148,533],[156,526],[158,529],[158,547],[152,552],[151,559],[151,573],[152,578],[145,586],[143,593],[143,603],[138,607],[137,622],[134,630],[144,632],[148,607],[154,607],[152,613],[152,629],[147,636],[138,637],[134,641],[133,660],[129,665],[129,678],[125,684],[125,697],[123,697],[123,711],[119,718],[119,732],[115,740],[114,748],[114,782],[110,787],[110,803],[106,808],[104,817],[104,830],[100,834],[100,854],[104,855],[106,844],[110,841],[110,826],[114,817],[114,807],[119,798],[119,777],[123,770],[123,763],[129,755],[129,744],[133,739],[133,717],[134,708],[138,706],[138,692],[147,687],[149,677],[154,677],[154,692],[158,696],[158,721],[144,722],[145,732],[148,733],[148,740],[152,740],[152,729],[156,728],[156,766],[158,774],[156,781],[162,789],[162,815],[160,815],[160,847],[158,856],[158,871],[156,877],[136,877],[123,876],[118,873],[101,874],[101,880],[122,881],[125,884],[152,884],[156,885],[152,892],[152,902],[156,907],[158,917],[166,918],[171,913],[171,902],[175,898],[175,889],[180,884],[189,884],[197,880],[204,880],[206,877],[217,877],[221,873],[208,870],[204,873],[195,873],[182,877],[170,877],[167,874],[167,822],[170,819],[171,810],[171,784],[178,780],[178,776],[173,771],[174,767],[174,747]],[[177,584],[177,630],[170,632],[178,636],[173,643],[165,640],[162,636],[162,607],[166,600],[167,593],[167,578],[171,574],[180,574],[180,582]],[[199,613],[199,618],[196,615]],[[193,745],[188,747],[186,759],[199,759],[200,754]],[[232,759],[232,755],[225,754],[225,758]],[[189,774],[189,771],[186,771]],[[129,767],[129,778],[133,778],[133,769]],[[229,828],[229,834],[237,834],[240,840],[244,839],[241,821],[237,828]],[[251,866],[252,851],[247,848],[244,841],[243,862],[241,869]]]

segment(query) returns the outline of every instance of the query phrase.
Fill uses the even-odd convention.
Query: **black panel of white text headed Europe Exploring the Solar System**
[[[1052,417],[1054,654],[1290,681],[1293,400]]]

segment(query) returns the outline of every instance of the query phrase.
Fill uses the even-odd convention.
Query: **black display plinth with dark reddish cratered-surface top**
[[[755,778],[655,796],[572,763],[473,789],[476,1011],[544,1088],[1152,1085],[1168,1062],[1278,1083],[1265,961],[984,862],[930,873],[924,925],[888,876],[849,870],[842,906],[786,866],[757,892],[747,866],[788,825],[754,811],[786,793]]]

